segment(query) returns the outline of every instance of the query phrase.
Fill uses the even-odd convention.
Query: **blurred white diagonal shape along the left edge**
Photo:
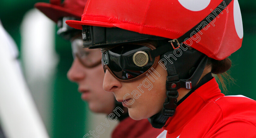
[[[0,121],[8,138],[48,138],[20,72],[16,45],[0,24]]]

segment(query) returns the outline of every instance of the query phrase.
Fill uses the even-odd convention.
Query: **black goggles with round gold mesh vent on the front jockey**
[[[119,81],[126,82],[144,76],[158,65],[160,56],[152,56],[151,43],[127,43],[101,49],[102,66]]]

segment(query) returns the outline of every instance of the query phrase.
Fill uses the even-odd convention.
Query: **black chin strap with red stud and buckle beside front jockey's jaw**
[[[162,128],[165,125],[166,120],[173,116],[177,107],[177,98],[179,96],[178,89],[187,88],[193,89],[197,86],[204,68],[207,63],[207,56],[201,59],[201,62],[197,66],[193,75],[189,79],[179,79],[179,75],[176,73],[174,64],[167,63],[167,80],[166,80],[166,96],[165,102],[163,104],[162,112],[155,114],[154,116],[148,118],[151,125],[155,128]],[[197,87],[198,88],[198,87]]]

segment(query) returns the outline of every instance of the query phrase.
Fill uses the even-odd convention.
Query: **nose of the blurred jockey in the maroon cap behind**
[[[70,81],[78,82],[85,78],[85,71],[83,71],[84,66],[76,58],[74,59],[72,66],[70,67],[67,77]]]

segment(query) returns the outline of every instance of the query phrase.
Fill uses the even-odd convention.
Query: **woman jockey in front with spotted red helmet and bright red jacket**
[[[90,0],[66,23],[101,48],[103,88],[164,128],[158,138],[256,137],[256,101],[225,96],[212,77],[242,44],[237,0]]]

